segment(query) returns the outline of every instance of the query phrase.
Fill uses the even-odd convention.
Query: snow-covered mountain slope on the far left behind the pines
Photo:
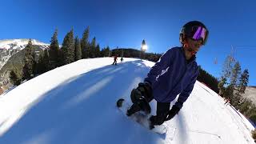
[[[18,51],[26,47],[28,41],[29,39],[0,40],[0,70],[12,55],[18,53]],[[49,44],[39,42],[35,39],[32,39],[32,44],[42,46],[42,48],[47,48],[49,46]]]

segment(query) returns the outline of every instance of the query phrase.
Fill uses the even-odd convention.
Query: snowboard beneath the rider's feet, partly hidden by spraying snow
[[[124,98],[120,98],[117,101],[118,109],[124,114],[127,118],[130,118],[132,121],[137,122],[139,125],[143,126],[147,130],[151,130],[156,134],[166,135],[167,127],[165,125],[154,126],[153,129],[150,129],[150,114],[145,114],[142,111],[138,111],[131,116],[126,115],[126,111],[130,108],[131,104],[128,103]]]

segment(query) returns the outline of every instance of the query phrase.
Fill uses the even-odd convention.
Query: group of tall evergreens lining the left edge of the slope
[[[43,50],[39,54],[38,60],[31,39],[24,50],[22,74],[18,70],[10,71],[10,82],[16,86],[24,80],[34,78],[34,76],[53,70],[58,66],[64,66],[82,58],[109,57],[111,54],[109,46],[100,50],[95,37],[91,42],[89,41],[89,27],[84,30],[81,39],[78,36],[74,38],[74,30],[70,30],[66,34],[61,47],[58,44],[58,30],[55,30],[50,40],[49,49]]]

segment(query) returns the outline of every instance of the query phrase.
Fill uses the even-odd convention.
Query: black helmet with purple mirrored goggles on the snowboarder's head
[[[202,45],[206,44],[209,31],[206,26],[199,21],[187,22],[182,26],[182,30],[179,33],[179,41],[184,43],[185,38],[192,38],[194,40],[202,40]]]

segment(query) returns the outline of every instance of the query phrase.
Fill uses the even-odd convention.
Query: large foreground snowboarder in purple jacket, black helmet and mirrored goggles
[[[194,88],[199,73],[195,55],[206,44],[208,34],[209,31],[202,22],[191,21],[182,26],[179,34],[182,46],[173,47],[162,54],[144,82],[140,82],[131,91],[133,105],[127,110],[127,116],[140,110],[150,114],[149,102],[153,99],[157,101],[157,111],[156,115],[149,118],[150,129],[155,125],[162,125],[178,114]],[[178,101],[170,109],[170,102],[178,94]]]

